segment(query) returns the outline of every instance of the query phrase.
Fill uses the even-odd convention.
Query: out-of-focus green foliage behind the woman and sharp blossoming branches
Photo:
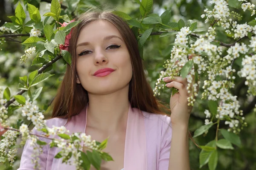
[[[0,26],[5,22],[11,22],[7,16],[15,15],[15,7],[18,0],[0,0]],[[30,3],[39,8],[41,15],[50,11],[50,0],[20,0],[20,3]],[[90,6],[99,6],[99,8],[115,9],[117,11],[123,11],[129,14],[132,18],[140,18],[139,5],[134,0],[60,0],[62,8],[62,14],[68,14],[70,17],[79,15],[86,11]],[[204,19],[201,18],[201,14],[204,14],[204,6],[210,6],[209,0],[153,0],[154,5],[152,12],[162,14],[167,9],[172,10],[172,22],[177,22],[180,19],[193,20],[198,22],[198,28],[204,28],[207,30],[209,23],[204,23]],[[256,4],[256,1],[251,1]],[[23,5],[24,7],[24,5]],[[26,11],[26,9],[25,9]],[[239,12],[239,11],[237,11]],[[240,10],[241,12],[241,10]],[[27,18],[29,20],[29,14],[26,11]],[[61,14],[61,15],[62,15]],[[253,18],[250,17],[250,12],[246,11],[241,13],[242,20],[250,21]],[[44,17],[42,17],[44,20]],[[25,21],[25,22],[26,22]],[[242,21],[238,21],[242,22]],[[243,22],[244,23],[244,22]],[[218,28],[221,29],[221,28]],[[3,32],[0,31],[0,35]],[[218,32],[219,40],[225,43],[233,42],[230,37],[224,34],[224,31]],[[7,86],[10,88],[11,95],[17,94],[19,77],[28,75],[30,72],[40,68],[39,65],[30,66],[34,56],[31,56],[26,63],[20,63],[20,57],[24,54],[24,47],[20,45],[19,41],[26,39],[27,37],[18,38],[0,38],[0,87],[5,89]],[[5,40],[5,41],[4,41]],[[148,75],[148,82],[150,82],[152,89],[155,87],[155,82],[159,78],[160,71],[163,70],[163,63],[166,59],[169,59],[172,45],[175,40],[175,35],[168,37],[161,37],[159,35],[150,36],[149,40],[144,46],[143,62],[145,65],[145,73]],[[234,67],[239,68],[241,61],[236,61]],[[41,95],[38,97],[37,102],[41,110],[46,111],[50,102],[56,94],[56,90],[60,85],[61,79],[64,75],[66,65],[62,60],[53,64],[51,74],[55,76],[50,77],[47,81],[44,81],[37,85],[37,88],[44,87]],[[239,70],[239,69],[236,69]],[[201,82],[204,80],[204,76],[201,77]],[[238,96],[241,110],[244,112],[245,121],[248,126],[241,130],[240,137],[243,147],[235,147],[235,150],[218,150],[218,166],[216,170],[256,170],[256,112],[253,112],[253,108],[256,104],[256,97],[247,96],[247,86],[244,85],[245,79],[236,78],[236,87],[233,89],[233,95]],[[202,86],[202,85],[201,85]],[[35,87],[36,88],[36,87]],[[193,132],[204,125],[204,110],[208,109],[207,101],[201,100],[202,89],[198,95],[198,100],[195,102],[191,119],[189,120],[189,130]],[[159,98],[163,102],[169,103],[169,97],[171,92],[166,91],[162,93]],[[17,112],[17,114],[19,114]],[[50,115],[45,115],[46,118]],[[15,121],[15,117],[13,118]],[[224,122],[221,122],[220,128],[227,128]],[[195,139],[195,142],[199,145],[205,145],[207,142],[215,138],[216,129],[211,128],[207,135],[199,136]],[[192,170],[199,170],[199,153],[195,144],[190,141],[190,165]],[[16,170],[19,166],[19,161],[15,163],[13,170]],[[11,170],[11,167],[0,164],[0,170]],[[201,170],[208,170],[207,165],[201,168]]]

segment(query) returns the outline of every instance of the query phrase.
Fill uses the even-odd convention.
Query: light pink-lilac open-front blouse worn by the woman
[[[65,126],[70,133],[85,132],[87,107]],[[137,108],[128,111],[127,128],[125,135],[124,170],[168,170],[169,154],[172,140],[172,125],[169,116],[148,113]],[[64,126],[67,119],[53,118],[47,120],[47,126]],[[32,133],[40,134],[35,128]],[[55,137],[56,136],[49,136]],[[40,138],[47,143],[49,139]],[[18,170],[33,170],[31,162],[33,148],[26,142]],[[81,142],[83,146],[83,142]],[[62,159],[54,156],[60,151],[57,147],[44,145],[43,153],[39,156],[41,170],[76,170],[75,166],[62,163]],[[38,168],[39,169],[39,168]]]

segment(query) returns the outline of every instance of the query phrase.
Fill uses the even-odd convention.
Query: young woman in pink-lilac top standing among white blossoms
[[[114,161],[102,162],[101,170],[189,170],[192,108],[186,79],[164,80],[179,90],[170,99],[171,116],[165,115],[146,81],[129,26],[108,11],[86,12],[77,20],[81,23],[72,30],[68,49],[72,65],[67,65],[47,126],[65,125],[70,133],[83,132],[99,142],[109,136],[104,151]],[[27,141],[18,170],[33,169],[32,150]],[[58,148],[44,146],[41,169],[75,170],[55,159],[57,153]]]

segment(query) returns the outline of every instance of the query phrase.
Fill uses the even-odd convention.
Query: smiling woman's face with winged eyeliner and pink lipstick
[[[129,85],[130,55],[119,31],[110,22],[98,20],[82,28],[76,54],[76,82],[89,94],[110,94]]]

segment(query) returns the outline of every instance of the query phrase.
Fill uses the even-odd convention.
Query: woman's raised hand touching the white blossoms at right
[[[172,125],[183,125],[187,127],[189,124],[189,116],[193,108],[192,106],[188,106],[187,98],[190,97],[192,93],[189,94],[187,91],[187,79],[175,76],[173,79],[165,77],[163,81],[168,82],[166,87],[178,89],[178,92],[171,96],[170,99]]]

